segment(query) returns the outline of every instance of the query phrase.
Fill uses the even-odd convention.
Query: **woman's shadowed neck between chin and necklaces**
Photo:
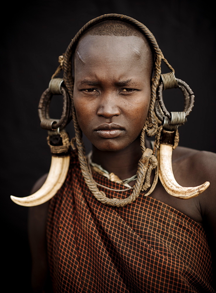
[[[146,140],[145,146],[150,147]],[[140,138],[121,151],[100,151],[92,146],[92,161],[101,165],[109,173],[115,173],[121,180],[136,174],[138,161],[142,156]]]

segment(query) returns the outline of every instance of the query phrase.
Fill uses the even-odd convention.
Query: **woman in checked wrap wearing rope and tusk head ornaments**
[[[160,75],[161,60],[171,73]],[[30,211],[34,291],[214,292],[208,245],[214,247],[215,239],[215,155],[177,147],[177,128],[193,106],[191,89],[175,78],[151,32],[116,14],[87,23],[60,63],[67,90],[61,81],[53,85],[58,69],[39,113],[57,156],[53,162],[62,170],[53,183],[51,166],[54,175],[33,188],[43,185],[41,191],[23,200],[43,203]],[[177,86],[184,111],[170,114],[162,88]],[[77,145],[69,171],[67,91]],[[61,123],[47,114],[52,93],[65,97]],[[87,158],[82,132],[92,143]],[[144,139],[145,132],[156,134],[155,144]],[[172,148],[177,182],[199,186],[177,185],[167,163]]]

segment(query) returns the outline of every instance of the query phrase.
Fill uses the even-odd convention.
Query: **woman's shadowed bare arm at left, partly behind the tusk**
[[[32,193],[37,191],[46,180],[47,174],[40,178]],[[32,255],[32,290],[44,292],[48,280],[48,262],[46,252],[46,218],[49,202],[29,208],[28,235]]]

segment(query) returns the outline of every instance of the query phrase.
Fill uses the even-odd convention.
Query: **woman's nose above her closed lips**
[[[107,94],[101,96],[100,104],[97,110],[97,115],[105,118],[112,118],[120,115],[120,108],[117,105],[118,99],[116,95]]]

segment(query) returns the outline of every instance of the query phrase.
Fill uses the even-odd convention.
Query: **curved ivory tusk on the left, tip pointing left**
[[[16,197],[11,195],[11,200],[13,200],[16,204],[23,205],[25,207],[33,207],[47,202],[62,187],[68,173],[69,164],[70,156],[52,156],[49,174],[42,187],[32,195],[26,197]]]

